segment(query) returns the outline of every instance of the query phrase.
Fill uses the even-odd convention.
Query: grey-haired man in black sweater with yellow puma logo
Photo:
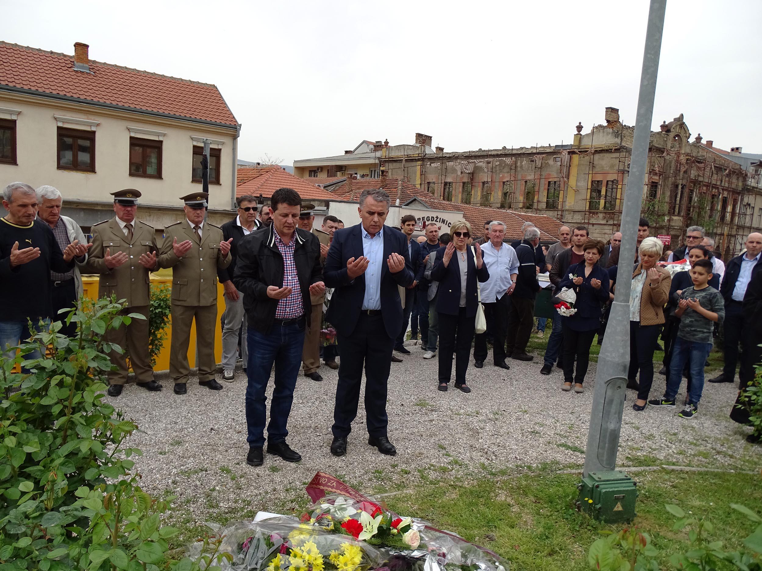
[[[8,215],[0,219],[0,350],[6,351],[25,337],[28,321],[39,330],[53,317],[50,272],[72,270],[88,246],[74,240],[61,251],[50,226],[35,219],[37,193],[28,184],[8,184],[2,206]]]

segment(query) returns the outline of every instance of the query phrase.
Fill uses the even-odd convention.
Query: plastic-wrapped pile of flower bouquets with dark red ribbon
[[[496,553],[402,517],[328,474],[307,486],[300,518],[259,512],[254,521],[210,525],[232,555],[229,571],[507,571]],[[188,548],[200,557],[200,544]]]

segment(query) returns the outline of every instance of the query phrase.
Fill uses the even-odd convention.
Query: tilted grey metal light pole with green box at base
[[[623,491],[628,487],[626,480],[632,482],[625,474],[611,471],[616,466],[616,452],[619,448],[629,365],[629,292],[632,282],[632,267],[627,263],[627,256],[629,255],[628,252],[634,254],[636,249],[645,167],[648,161],[648,143],[651,138],[651,121],[654,113],[661,33],[664,30],[664,10],[666,7],[667,0],[651,0],[651,6],[648,10],[648,27],[645,32],[635,136],[632,141],[632,156],[622,208],[621,251],[623,254],[620,256],[619,270],[616,273],[616,294],[611,305],[604,343],[600,348],[600,356],[598,357],[593,410],[588,432],[588,448],[584,454],[583,482],[580,486],[581,506],[588,509],[597,507],[597,515],[607,521],[627,520],[635,515],[636,493],[634,483],[629,486],[632,487],[632,514],[626,513],[629,511],[627,505],[630,502],[625,502],[624,494],[615,493],[612,496],[613,499],[620,501],[612,503],[609,509],[607,509],[605,501],[603,506],[601,506],[600,501],[596,504],[594,488],[604,485],[600,482],[609,481],[613,483],[614,480],[619,480],[620,487],[622,487],[620,491]],[[601,476],[606,472],[609,472],[608,476]],[[590,478],[591,475],[593,475],[592,479]],[[595,482],[599,483],[596,484]],[[626,506],[623,507],[623,503]],[[611,518],[612,515],[614,516],[613,519]]]

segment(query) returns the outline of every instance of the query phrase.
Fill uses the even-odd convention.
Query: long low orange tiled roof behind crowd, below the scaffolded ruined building
[[[472,225],[474,234],[477,234],[479,238],[482,236],[482,228],[485,222],[489,220],[505,222],[505,237],[511,240],[523,238],[521,226],[524,222],[532,222],[539,229],[539,239],[541,241],[558,241],[559,228],[563,225],[559,220],[546,215],[524,214],[523,212],[514,212],[512,210],[450,203],[447,200],[432,198],[431,194],[428,193],[426,193],[426,196],[418,196],[417,198],[433,209],[463,212],[463,218]]]

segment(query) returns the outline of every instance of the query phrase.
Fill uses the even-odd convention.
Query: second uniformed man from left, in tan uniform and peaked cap
[[[165,228],[162,267],[172,268],[172,340],[169,374],[174,394],[187,393],[188,344],[196,319],[198,384],[219,391],[223,385],[214,378],[214,335],[217,321],[217,270],[230,265],[230,243],[223,240],[219,226],[204,222],[208,193],[182,196],[185,220]]]

